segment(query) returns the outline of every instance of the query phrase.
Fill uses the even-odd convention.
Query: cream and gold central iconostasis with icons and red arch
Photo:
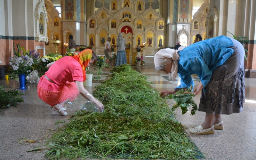
[[[164,46],[166,33],[165,20],[153,8],[148,0],[109,0],[95,1],[97,11],[87,19],[87,41],[93,50],[104,55],[105,42],[111,37],[110,44],[116,43],[119,32],[123,33],[126,44],[130,44],[131,52],[136,52],[137,45],[144,44],[143,55],[153,56]],[[148,5],[148,6],[147,6]],[[158,6],[159,9],[159,6]]]

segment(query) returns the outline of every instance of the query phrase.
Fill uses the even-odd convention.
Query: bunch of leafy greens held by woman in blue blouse
[[[192,106],[191,115],[195,115],[197,111],[196,102],[193,100],[195,94],[190,93],[192,90],[192,86],[186,90],[179,90],[175,94],[169,95],[169,98],[176,101],[176,103],[172,106],[172,110],[180,107],[182,115],[188,111],[189,106]]]

